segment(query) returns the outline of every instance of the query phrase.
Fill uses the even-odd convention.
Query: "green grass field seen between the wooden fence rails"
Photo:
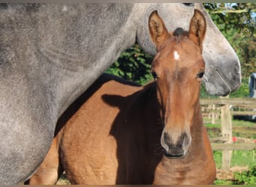
[[[210,119],[204,118],[204,126],[210,138],[220,137],[221,121],[216,119],[216,124],[211,124]],[[250,138],[256,140],[256,123],[244,120],[232,120],[233,137]],[[222,180],[216,180],[215,184],[256,184],[256,151],[233,150],[231,159],[231,171],[233,173],[220,174]],[[213,151],[216,162],[217,175],[222,168],[222,151]],[[223,173],[223,172],[222,172]],[[225,179],[226,177],[226,179]]]

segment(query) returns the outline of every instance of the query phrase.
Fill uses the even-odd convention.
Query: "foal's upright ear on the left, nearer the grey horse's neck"
[[[165,27],[165,23],[158,15],[157,10],[150,13],[148,19],[148,28],[150,31],[151,40],[156,47],[168,37],[168,31]]]

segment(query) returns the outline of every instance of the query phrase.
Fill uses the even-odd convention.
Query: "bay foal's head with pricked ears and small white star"
[[[165,123],[161,144],[165,156],[185,156],[192,141],[192,120],[199,109],[206,22],[204,15],[195,10],[189,31],[177,28],[173,33],[168,33],[164,22],[154,11],[149,17],[149,29],[157,52],[152,73]]]

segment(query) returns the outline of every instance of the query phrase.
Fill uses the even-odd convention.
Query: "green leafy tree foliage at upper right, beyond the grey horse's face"
[[[242,76],[256,70],[256,4],[204,3],[204,7],[240,58]]]

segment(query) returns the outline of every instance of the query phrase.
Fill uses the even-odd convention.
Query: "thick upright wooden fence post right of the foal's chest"
[[[230,105],[223,105],[221,111],[222,136],[228,137],[228,141],[225,142],[225,144],[232,144],[232,121]],[[231,168],[231,156],[232,150],[222,151],[222,169],[225,171],[229,171]]]

